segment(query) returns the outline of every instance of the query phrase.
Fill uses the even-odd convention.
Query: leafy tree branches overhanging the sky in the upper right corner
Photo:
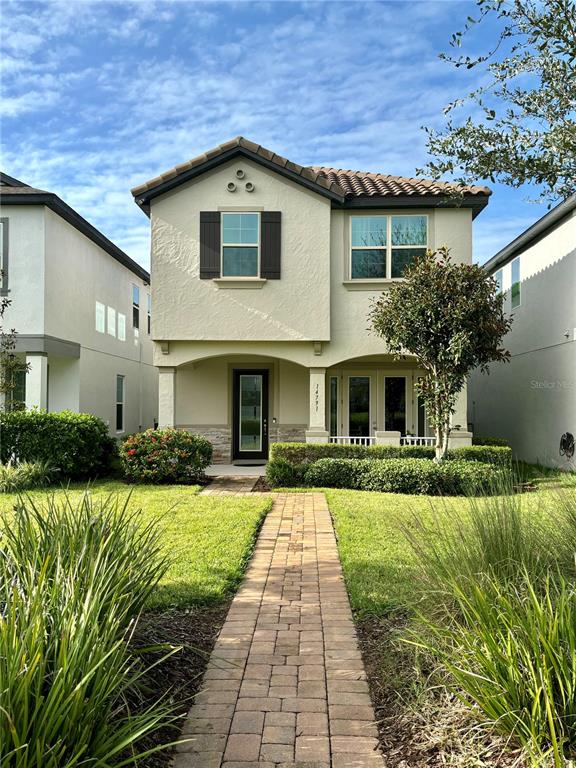
[[[449,174],[462,184],[535,184],[542,199],[565,199],[576,189],[576,1],[476,5],[477,15],[450,44],[461,48],[475,28],[493,21],[494,45],[479,56],[440,58],[480,73],[482,85],[448,104],[443,130],[424,128],[433,159],[418,173]]]

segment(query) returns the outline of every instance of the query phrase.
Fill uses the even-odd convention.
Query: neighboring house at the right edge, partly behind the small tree
[[[516,456],[574,467],[576,435],[576,195],[486,264],[506,294],[510,363],[474,373],[474,432],[508,439]]]

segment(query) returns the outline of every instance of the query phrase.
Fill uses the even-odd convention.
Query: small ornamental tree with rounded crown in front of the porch
[[[507,361],[511,320],[496,282],[477,264],[456,264],[447,248],[428,251],[374,300],[372,330],[396,357],[413,355],[426,375],[416,384],[436,433],[436,461],[448,450],[450,418],[474,368]]]

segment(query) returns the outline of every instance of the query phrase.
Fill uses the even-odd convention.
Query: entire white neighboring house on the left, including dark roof
[[[30,366],[13,396],[112,435],[153,426],[149,274],[51,192],[0,174],[0,206],[4,327]]]

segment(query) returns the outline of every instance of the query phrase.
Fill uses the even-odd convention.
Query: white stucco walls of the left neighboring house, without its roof
[[[112,435],[153,426],[158,372],[147,331],[150,286],[48,207],[6,205],[1,215],[9,220],[12,301],[5,325],[16,328],[22,343],[46,337],[79,345],[79,356],[66,354],[59,343],[48,354],[48,410],[93,413]],[[132,324],[133,285],[140,290],[138,335]],[[96,329],[97,301],[106,312],[114,310],[113,334],[108,327],[104,333]],[[118,313],[125,317],[125,340],[118,335]],[[116,430],[118,375],[125,377],[122,432]]]

